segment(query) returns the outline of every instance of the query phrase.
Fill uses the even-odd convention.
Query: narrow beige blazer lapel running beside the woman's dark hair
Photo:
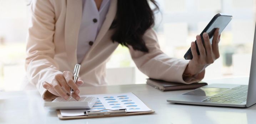
[[[101,41],[101,39],[103,38],[103,36],[107,33],[107,31],[109,30],[115,16],[116,16],[116,9],[117,9],[117,0],[110,0],[110,6],[109,6],[109,11],[107,12],[105,21],[103,22],[99,34],[97,35],[94,44],[91,46],[90,50],[86,53],[85,58],[83,61],[85,61],[85,59],[87,58],[88,54],[90,54],[90,52],[95,48],[95,46],[97,46],[97,44]]]

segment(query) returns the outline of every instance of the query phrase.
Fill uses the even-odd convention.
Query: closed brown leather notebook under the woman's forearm
[[[161,91],[175,91],[175,90],[191,90],[207,85],[207,83],[200,81],[199,83],[182,84],[175,82],[167,82],[163,80],[147,79],[147,84],[153,86]]]

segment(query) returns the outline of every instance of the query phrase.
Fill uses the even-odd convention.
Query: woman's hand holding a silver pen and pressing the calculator
[[[82,78],[78,78],[76,83],[74,83],[73,77],[74,75],[72,72],[64,71],[62,74],[55,75],[51,83],[44,81],[42,85],[52,94],[60,96],[65,100],[69,98],[70,90],[72,88],[74,90],[72,97],[79,101],[80,90],[78,89],[78,87],[84,84],[84,81]]]

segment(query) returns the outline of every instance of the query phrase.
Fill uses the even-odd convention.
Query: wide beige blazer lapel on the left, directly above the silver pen
[[[77,63],[76,49],[82,19],[82,0],[67,0],[66,3],[65,49],[69,67],[73,68]]]

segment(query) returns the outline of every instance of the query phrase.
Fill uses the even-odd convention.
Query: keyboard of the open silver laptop
[[[203,102],[243,103],[247,99],[248,85],[240,85],[221,92],[204,100]]]

